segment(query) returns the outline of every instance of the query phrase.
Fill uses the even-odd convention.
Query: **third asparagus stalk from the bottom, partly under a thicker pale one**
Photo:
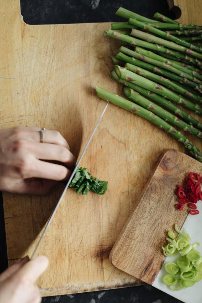
[[[202,130],[202,124],[199,121],[197,121],[191,115],[184,112],[182,109],[178,108],[177,105],[173,104],[169,100],[167,100],[167,99],[161,97],[160,95],[157,95],[154,92],[151,92],[141,86],[138,86],[134,83],[131,83],[129,81],[125,81],[125,80],[119,78],[117,73],[115,72],[115,70],[112,70],[110,72],[110,75],[114,80],[116,80],[124,85],[127,85],[128,87],[139,92],[141,95],[145,96],[146,98],[158,103],[159,105],[168,109],[170,112],[173,112],[175,115],[179,116],[180,118],[183,118],[184,121],[186,121],[187,123],[192,124],[196,128]]]

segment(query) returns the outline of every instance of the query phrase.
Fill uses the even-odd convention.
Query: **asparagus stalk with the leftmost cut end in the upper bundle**
[[[104,36],[105,37],[116,38],[118,40],[121,40],[122,42],[131,44],[132,46],[141,46],[141,47],[144,47],[144,48],[152,49],[154,51],[166,53],[168,55],[172,55],[172,56],[175,56],[175,57],[183,59],[183,60],[185,59],[185,60],[187,60],[187,62],[190,62],[191,64],[193,63],[193,64],[196,64],[196,65],[202,67],[202,62],[198,59],[190,58],[187,55],[181,54],[179,52],[175,52],[174,50],[171,50],[169,48],[165,48],[163,46],[160,46],[160,45],[157,45],[157,44],[154,44],[154,43],[145,42],[145,41],[142,41],[140,39],[136,39],[136,38],[131,37],[131,36],[123,35],[119,32],[112,31],[111,29],[109,29],[108,31],[105,31]]]

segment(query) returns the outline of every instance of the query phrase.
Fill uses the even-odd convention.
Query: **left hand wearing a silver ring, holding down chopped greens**
[[[0,130],[0,190],[20,194],[46,194],[56,181],[67,180],[75,157],[59,132],[13,127]],[[63,162],[65,166],[43,160]],[[38,178],[38,179],[33,179]],[[56,181],[54,181],[56,180]]]

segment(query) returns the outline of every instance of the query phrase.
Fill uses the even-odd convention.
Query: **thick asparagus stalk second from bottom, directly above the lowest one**
[[[136,102],[138,105],[150,110],[160,118],[164,119],[165,121],[182,128],[186,132],[190,132],[193,135],[202,139],[202,132],[200,132],[197,128],[187,124],[186,122],[180,120],[175,115],[167,112],[165,109],[161,108],[161,106],[156,105],[155,103],[151,102],[147,98],[143,97],[139,94],[139,92],[129,88],[127,86],[123,86],[123,94],[125,97],[131,99],[132,101]]]

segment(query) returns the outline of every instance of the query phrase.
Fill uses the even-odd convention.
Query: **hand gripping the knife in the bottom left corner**
[[[0,275],[1,303],[40,303],[41,296],[35,280],[45,271],[48,259],[39,256],[29,261],[28,256],[8,267]]]

